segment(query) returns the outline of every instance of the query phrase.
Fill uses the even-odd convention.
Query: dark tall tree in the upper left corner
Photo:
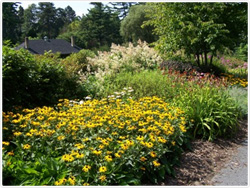
[[[3,41],[10,40],[13,44],[20,40],[21,35],[21,23],[18,15],[17,7],[18,3],[3,4]]]

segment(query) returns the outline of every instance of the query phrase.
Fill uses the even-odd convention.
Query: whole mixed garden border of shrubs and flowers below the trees
[[[141,41],[65,59],[4,46],[4,185],[141,185],[174,175],[191,137],[231,136],[247,113],[247,63],[222,57],[215,76],[164,63]]]

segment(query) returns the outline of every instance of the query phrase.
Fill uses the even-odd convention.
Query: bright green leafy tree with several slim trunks
[[[225,3],[151,3],[147,24],[159,35],[156,43],[163,53],[184,49],[186,54],[200,56],[208,64],[208,53],[213,55],[229,40],[230,31],[223,22]],[[235,23],[237,24],[237,23]],[[210,59],[212,63],[212,58]]]

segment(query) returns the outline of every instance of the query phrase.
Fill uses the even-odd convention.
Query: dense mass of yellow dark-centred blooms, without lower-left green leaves
[[[110,97],[84,103],[62,99],[55,109],[24,109],[22,115],[9,112],[3,113],[3,118],[6,127],[16,127],[15,142],[29,143],[21,143],[23,151],[31,146],[29,152],[46,148],[56,153],[72,174],[78,174],[59,179],[55,185],[108,182],[114,169],[122,173],[119,167],[127,165],[126,160],[138,169],[157,168],[166,149],[174,147],[173,139],[186,132],[184,112],[158,97]],[[35,144],[36,140],[44,145]],[[9,142],[3,145],[8,147]]]

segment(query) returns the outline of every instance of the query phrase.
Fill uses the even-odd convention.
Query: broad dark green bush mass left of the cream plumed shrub
[[[3,46],[3,110],[51,105],[84,94],[77,75],[67,74],[58,56],[34,56]]]

